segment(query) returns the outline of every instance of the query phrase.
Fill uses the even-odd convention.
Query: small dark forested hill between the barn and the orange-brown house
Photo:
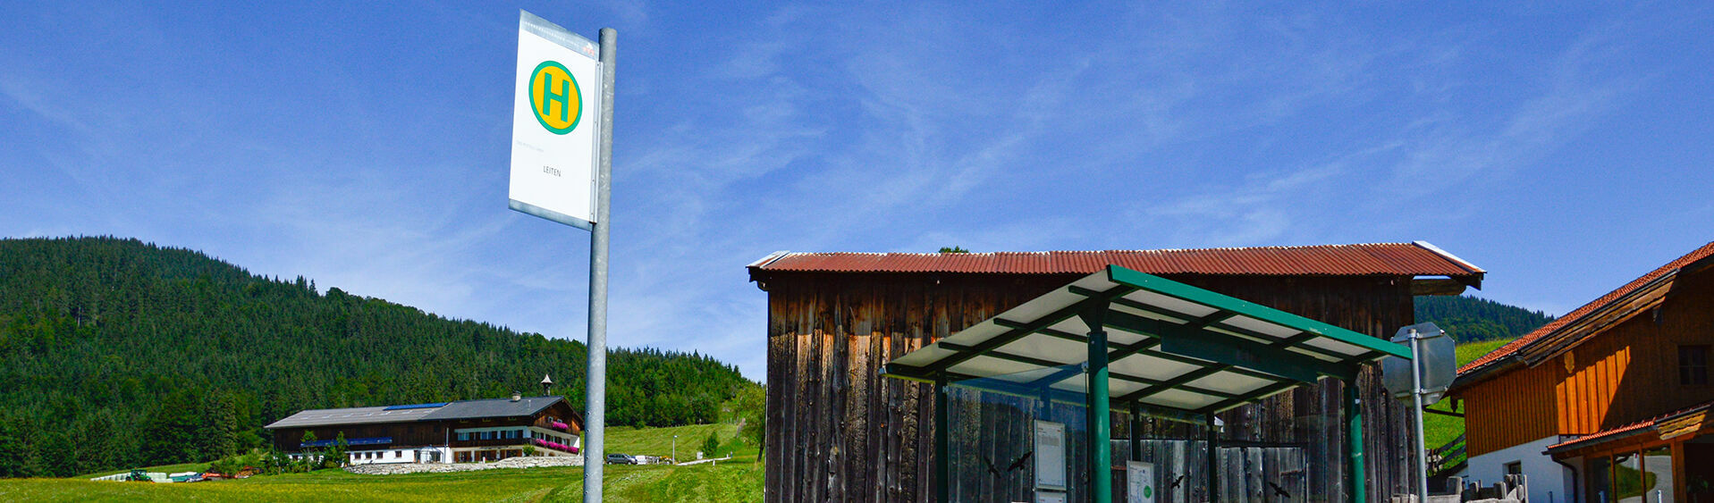
[[[1517,339],[1553,322],[1553,317],[1472,296],[1419,296],[1416,320],[1435,322],[1459,342],[1476,342]]]

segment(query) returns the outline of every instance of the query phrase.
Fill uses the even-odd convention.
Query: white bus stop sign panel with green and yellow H
[[[583,229],[595,222],[598,55],[590,39],[521,12],[511,209]]]

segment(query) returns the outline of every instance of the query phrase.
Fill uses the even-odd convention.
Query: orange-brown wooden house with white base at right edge
[[[1531,476],[1541,501],[1714,501],[1711,269],[1714,243],[1462,366],[1465,474]]]

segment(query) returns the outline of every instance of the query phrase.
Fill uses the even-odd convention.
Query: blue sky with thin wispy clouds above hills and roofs
[[[759,380],[775,250],[1426,240],[1563,313],[1714,240],[1714,12],[1553,7],[5,2],[0,236],[583,339],[588,233],[506,207],[526,9],[619,29],[615,346]]]

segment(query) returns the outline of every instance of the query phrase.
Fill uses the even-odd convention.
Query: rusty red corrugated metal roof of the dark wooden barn
[[[1106,265],[1147,274],[1243,275],[1447,275],[1484,270],[1429,243],[1258,246],[1202,250],[996,252],[996,253],[773,253],[752,270],[1090,274]]]

